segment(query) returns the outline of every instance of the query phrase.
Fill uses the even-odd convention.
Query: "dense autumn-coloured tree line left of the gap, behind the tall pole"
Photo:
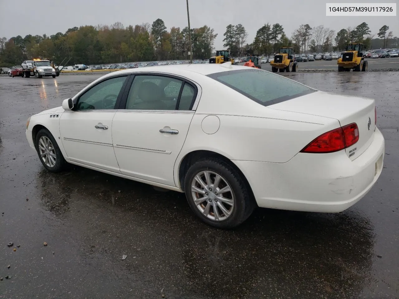
[[[193,57],[209,59],[217,33],[204,25],[191,28]],[[124,27],[81,26],[54,35],[20,35],[0,39],[0,67],[20,65],[32,57],[45,57],[60,63],[71,57],[69,65],[118,63],[128,61],[190,59],[188,27],[166,30],[163,20]]]

